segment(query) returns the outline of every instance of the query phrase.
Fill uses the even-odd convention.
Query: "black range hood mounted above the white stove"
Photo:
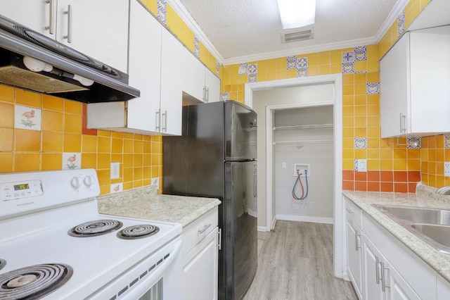
[[[140,95],[128,75],[0,15],[0,83],[84,103]]]

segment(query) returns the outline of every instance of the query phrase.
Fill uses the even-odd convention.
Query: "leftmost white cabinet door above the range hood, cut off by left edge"
[[[2,0],[0,14],[42,35],[56,39],[56,0],[49,3],[44,0]]]

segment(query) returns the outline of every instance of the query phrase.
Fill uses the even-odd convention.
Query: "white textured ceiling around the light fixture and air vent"
[[[404,0],[316,0],[314,39],[281,43],[276,0],[179,0],[226,61],[376,42]],[[402,2],[401,4],[399,2]],[[403,6],[401,6],[403,8]],[[398,10],[398,8],[397,8]],[[391,13],[392,14],[392,13]],[[394,17],[397,17],[394,15]],[[392,19],[392,18],[391,18]],[[389,20],[392,24],[392,20]],[[309,27],[307,27],[309,28]],[[387,28],[387,27],[386,27]]]

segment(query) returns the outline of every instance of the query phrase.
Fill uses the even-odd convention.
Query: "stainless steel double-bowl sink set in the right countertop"
[[[450,254],[450,209],[372,204],[437,251]]]

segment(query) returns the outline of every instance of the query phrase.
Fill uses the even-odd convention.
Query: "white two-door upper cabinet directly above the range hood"
[[[3,0],[0,12],[127,73],[128,0]]]

